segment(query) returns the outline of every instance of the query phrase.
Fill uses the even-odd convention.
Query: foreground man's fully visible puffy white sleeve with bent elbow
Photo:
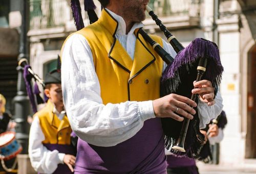
[[[114,146],[133,137],[154,118],[152,101],[103,105],[93,56],[87,40],[70,36],[62,49],[61,84],[70,125],[82,140]]]

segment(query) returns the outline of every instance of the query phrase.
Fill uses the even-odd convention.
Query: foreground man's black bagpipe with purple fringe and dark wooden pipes
[[[71,0],[71,8],[76,28],[80,30],[84,27],[84,24],[80,13],[79,0]],[[94,11],[95,8],[96,6],[92,0],[84,0],[84,9],[88,11],[90,23],[98,20]],[[150,43],[167,64],[161,78],[161,96],[176,93],[189,97],[198,103],[198,96],[191,95],[191,90],[194,88],[193,82],[201,79],[206,79],[212,83],[216,95],[223,72],[217,44],[203,38],[197,38],[184,48],[176,37],[166,29],[152,9],[147,7],[147,11],[156,21],[160,30],[164,32],[167,40],[177,53],[174,59],[142,28],[139,29],[139,34]],[[161,120],[167,150],[179,156],[198,158],[200,147],[204,142],[204,135],[199,130],[200,120],[198,113],[194,115],[194,119],[185,118],[183,122],[172,118],[161,118]]]

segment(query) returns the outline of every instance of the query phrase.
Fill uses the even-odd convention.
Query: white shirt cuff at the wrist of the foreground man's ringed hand
[[[138,102],[138,105],[139,105],[139,115],[142,121],[156,117],[154,113],[152,101]]]

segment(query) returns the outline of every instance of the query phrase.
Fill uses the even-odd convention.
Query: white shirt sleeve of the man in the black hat
[[[45,135],[42,133],[38,117],[35,116],[29,134],[29,158],[31,165],[39,173],[53,173],[58,164],[63,164],[65,154],[61,154],[57,150],[47,150],[42,144],[44,140]]]

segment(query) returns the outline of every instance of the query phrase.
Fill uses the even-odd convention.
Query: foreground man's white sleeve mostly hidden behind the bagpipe
[[[173,58],[175,58],[175,56],[177,55],[173,47],[164,40],[163,40],[163,48]],[[198,100],[197,109],[198,109],[198,116],[200,119],[200,125],[199,125],[200,129],[205,128],[212,118],[216,118],[218,115],[220,115],[223,108],[222,101],[223,100],[219,92],[216,94],[216,97],[215,97],[216,103],[213,106],[208,106],[206,103]]]

